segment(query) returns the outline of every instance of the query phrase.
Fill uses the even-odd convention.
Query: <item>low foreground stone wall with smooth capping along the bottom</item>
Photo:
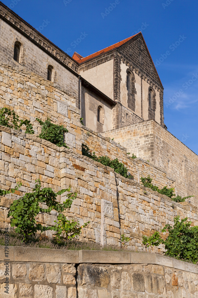
[[[168,257],[130,252],[9,249],[10,260],[3,262],[4,247],[0,246],[1,298],[198,297],[198,266]]]

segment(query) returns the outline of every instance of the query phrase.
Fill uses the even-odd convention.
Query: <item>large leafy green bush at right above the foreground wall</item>
[[[166,239],[162,239],[160,233],[156,231],[152,236],[143,236],[142,243],[147,246],[165,245],[165,255],[175,257],[176,259],[191,261],[194,264],[198,262],[198,226],[190,226],[191,221],[187,217],[181,219],[174,218],[174,226],[166,224],[161,233],[168,232]]]

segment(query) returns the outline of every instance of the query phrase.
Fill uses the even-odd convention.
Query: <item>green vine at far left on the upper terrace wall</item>
[[[9,122],[11,122],[13,126],[9,125]],[[25,133],[34,134],[34,130],[33,130],[32,124],[30,123],[30,120],[27,120],[27,119],[19,120],[19,116],[14,111],[11,111],[8,108],[2,108],[0,110],[0,125],[4,125],[9,128],[14,127],[14,129],[16,130],[20,129],[22,125],[25,125],[26,126]]]

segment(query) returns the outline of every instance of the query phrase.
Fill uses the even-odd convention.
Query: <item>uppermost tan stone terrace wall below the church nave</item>
[[[81,152],[80,111],[66,90],[34,73],[5,65],[0,65],[0,84],[0,108],[11,108],[20,119],[30,120],[36,135],[41,133],[37,117],[64,125],[69,130],[65,142]]]

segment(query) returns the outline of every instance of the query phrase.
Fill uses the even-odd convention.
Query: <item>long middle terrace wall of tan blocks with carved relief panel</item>
[[[34,135],[5,127],[1,127],[0,146],[1,189],[9,190],[18,181],[22,182],[18,192],[1,198],[1,226],[9,226],[10,204],[31,191],[36,179],[41,180],[42,187],[55,191],[69,185],[72,191],[77,190],[77,199],[65,215],[75,217],[80,224],[90,221],[79,237],[83,241],[120,246],[121,235],[125,234],[130,237],[127,245],[131,249],[145,251],[142,235],[151,235],[167,223],[173,225],[176,215],[198,225],[194,205],[175,203],[72,149],[59,148]],[[63,201],[64,194],[58,200]],[[37,216],[43,225],[52,226],[54,220],[54,212]],[[52,232],[48,231],[47,235],[52,236]],[[153,251],[161,253],[163,249],[160,246]]]

